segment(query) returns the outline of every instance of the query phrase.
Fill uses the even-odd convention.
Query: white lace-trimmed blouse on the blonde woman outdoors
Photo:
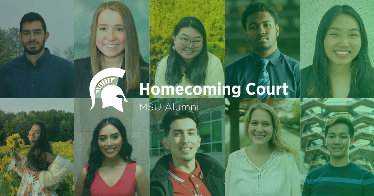
[[[300,173],[291,153],[274,148],[270,159],[258,168],[247,157],[245,148],[229,156],[226,196],[300,196]]]

